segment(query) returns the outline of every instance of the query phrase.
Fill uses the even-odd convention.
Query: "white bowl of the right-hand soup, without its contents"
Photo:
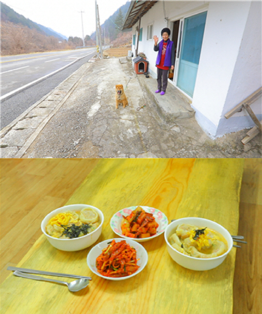
[[[227,240],[228,250],[224,254],[213,258],[197,258],[180,253],[179,251],[174,249],[168,241],[169,236],[175,232],[176,227],[180,223],[192,224],[199,227],[208,227],[219,232]],[[181,218],[172,221],[165,229],[164,239],[167,245],[167,251],[170,254],[171,258],[180,266],[192,270],[209,270],[219,266],[225,260],[233,246],[232,237],[227,229],[212,220],[198,217]]]

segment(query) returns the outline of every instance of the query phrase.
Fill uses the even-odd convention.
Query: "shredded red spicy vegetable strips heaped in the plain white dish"
[[[106,277],[126,277],[133,274],[137,265],[136,250],[125,240],[109,243],[97,257],[96,267],[98,272]]]

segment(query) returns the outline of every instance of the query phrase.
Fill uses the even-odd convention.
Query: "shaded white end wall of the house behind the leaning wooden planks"
[[[245,115],[245,110],[235,113],[230,119],[225,119],[224,114],[243,101],[246,95],[252,94],[262,86],[261,10],[262,5],[260,1],[251,3],[238,58],[229,85],[229,92],[219,121],[217,135],[223,135],[225,131],[239,130],[239,126],[246,128],[254,125],[249,115]],[[256,25],[255,28],[254,25]],[[261,97],[251,105],[251,108],[261,121]]]

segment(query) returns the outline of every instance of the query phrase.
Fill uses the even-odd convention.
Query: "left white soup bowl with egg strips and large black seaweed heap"
[[[102,232],[103,213],[94,206],[72,204],[51,211],[41,223],[50,244],[62,251],[79,251],[94,244]]]

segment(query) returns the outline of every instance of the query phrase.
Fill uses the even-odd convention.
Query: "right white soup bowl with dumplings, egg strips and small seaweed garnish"
[[[171,258],[192,270],[219,266],[233,246],[227,229],[212,220],[198,217],[172,221],[165,229],[164,239]]]

